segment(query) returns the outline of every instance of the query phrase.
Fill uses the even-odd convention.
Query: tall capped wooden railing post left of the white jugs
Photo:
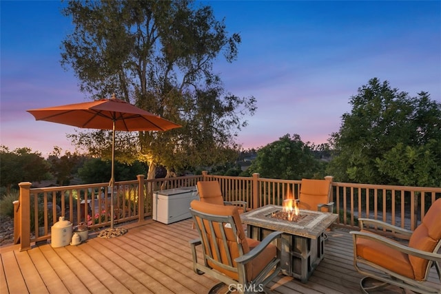
[[[31,182],[21,182],[19,198],[20,251],[30,249],[30,187]],[[37,225],[37,224],[36,224]]]

